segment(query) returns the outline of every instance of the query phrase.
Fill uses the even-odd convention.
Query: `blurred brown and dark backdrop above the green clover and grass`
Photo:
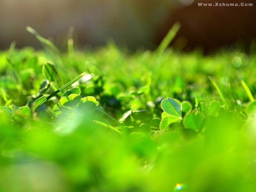
[[[253,3],[252,7],[199,7],[198,2]],[[31,26],[58,47],[65,47],[74,27],[75,43],[155,49],[176,21],[181,29],[173,41],[183,50],[205,51],[240,42],[248,47],[256,36],[254,0],[1,0],[0,49],[41,45],[26,31]]]

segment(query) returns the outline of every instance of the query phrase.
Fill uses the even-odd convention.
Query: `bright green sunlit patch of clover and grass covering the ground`
[[[0,52],[0,191],[256,191],[256,56]],[[166,49],[167,48],[167,49]],[[81,74],[81,75],[80,75]]]

